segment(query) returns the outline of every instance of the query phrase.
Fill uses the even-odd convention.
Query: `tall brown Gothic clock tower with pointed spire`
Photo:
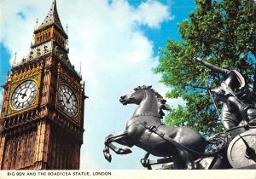
[[[84,85],[68,58],[55,0],[27,57],[3,85],[1,170],[77,170],[84,133]]]

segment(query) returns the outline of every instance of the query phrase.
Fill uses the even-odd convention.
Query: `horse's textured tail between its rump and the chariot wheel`
[[[229,143],[229,136],[227,133],[218,133],[207,139],[207,147],[204,155],[212,156],[220,153]]]

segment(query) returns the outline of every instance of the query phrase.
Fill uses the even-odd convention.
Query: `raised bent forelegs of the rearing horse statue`
[[[108,162],[111,162],[111,159],[112,159],[111,155],[109,153],[109,148],[111,148],[113,150],[113,152],[115,152],[117,154],[131,153],[131,150],[129,148],[127,148],[127,147],[125,147],[125,148],[115,147],[112,143],[112,142],[117,142],[117,143],[125,145],[125,137],[126,136],[127,136],[127,132],[122,132],[119,135],[115,135],[115,136],[109,135],[108,137],[106,137],[106,140],[104,142],[105,149],[103,150],[103,153],[104,153],[105,159],[107,159]],[[127,144],[127,146],[131,146],[131,145]]]

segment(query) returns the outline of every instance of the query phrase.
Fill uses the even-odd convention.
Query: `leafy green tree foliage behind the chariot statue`
[[[216,66],[241,72],[256,91],[256,3],[253,0],[196,0],[195,11],[179,24],[182,41],[169,39],[160,49],[161,82],[170,87],[168,98],[182,97],[166,115],[166,124],[187,125],[206,135],[221,130],[207,84],[216,86],[213,75],[194,59],[200,57]],[[218,108],[221,106],[218,105]]]

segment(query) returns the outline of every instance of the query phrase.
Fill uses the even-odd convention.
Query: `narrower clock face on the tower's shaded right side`
[[[59,89],[59,102],[61,109],[69,116],[75,116],[78,112],[79,104],[76,95],[67,85],[61,85]]]

